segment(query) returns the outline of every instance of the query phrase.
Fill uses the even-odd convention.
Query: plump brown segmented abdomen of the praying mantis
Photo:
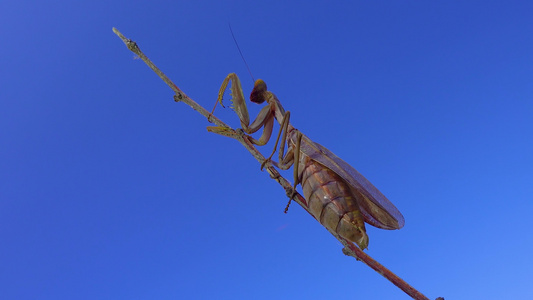
[[[368,245],[365,223],[348,184],[306,155],[300,158],[299,170],[304,196],[313,216],[326,228],[365,249]]]

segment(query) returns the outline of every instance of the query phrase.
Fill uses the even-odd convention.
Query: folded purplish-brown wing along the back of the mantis
[[[326,147],[302,134],[300,150],[344,179],[352,189],[365,222],[382,229],[400,229],[405,220],[400,211],[361,173]]]

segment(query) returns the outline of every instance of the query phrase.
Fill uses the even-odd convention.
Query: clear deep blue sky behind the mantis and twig
[[[228,22],[293,124],[405,216],[399,231],[368,228],[371,256],[431,299],[533,298],[532,13],[530,1],[3,1],[0,298],[408,299],[298,205],[283,214],[258,162],[111,31],[211,108],[228,73],[245,94],[253,84]]]

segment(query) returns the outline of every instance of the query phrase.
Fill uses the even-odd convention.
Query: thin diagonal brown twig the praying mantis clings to
[[[210,114],[205,108],[200,106],[198,103],[196,103],[194,100],[189,98],[183,91],[181,91],[144,53],[142,53],[141,49],[135,43],[134,41],[126,38],[122,33],[120,33],[116,28],[113,28],[113,32],[122,39],[124,44],[126,44],[126,47],[130,49],[133,53],[139,56],[140,59],[142,59],[149,67],[152,69],[175,93],[174,95],[174,101],[176,102],[184,102],[185,104],[192,107],[194,110],[198,111],[200,114],[202,114],[204,117],[207,118],[209,122],[215,123],[217,127],[208,127],[208,131],[215,132],[218,134],[222,134],[231,138],[234,138],[238,140],[259,163],[265,162],[265,157],[255,148],[255,146],[250,142],[250,137],[246,135],[242,129],[232,129],[230,126],[228,126],[226,123],[222,122],[220,119],[216,118],[212,114]],[[222,127],[222,128],[220,128]],[[267,161],[265,163],[265,168],[267,172],[269,173],[270,177],[274,180],[276,180],[285,190],[285,193],[290,197],[290,195],[293,194],[293,188],[292,184],[283,178],[277,169],[274,167],[274,165]],[[298,202],[300,206],[302,206],[311,216],[313,216],[308,208],[307,208],[307,201],[305,200],[302,195],[299,193],[294,194],[293,200]],[[429,300],[426,296],[424,296],[419,291],[415,290],[412,286],[410,286],[407,282],[405,282],[403,279],[398,277],[396,274],[392,273],[389,269],[385,268],[383,265],[381,265],[379,262],[374,260],[372,257],[370,257],[368,254],[363,252],[360,248],[355,246],[353,243],[345,240],[341,236],[339,236],[336,232],[331,231],[328,229],[328,231],[337,239],[339,242],[341,242],[344,245],[343,253],[345,255],[353,256],[355,259],[362,261],[370,268],[374,269],[379,274],[383,275],[385,278],[387,278],[390,282],[392,282],[394,285],[399,287],[401,290],[403,290],[405,293],[407,293],[409,296],[411,296],[413,299],[417,300]]]

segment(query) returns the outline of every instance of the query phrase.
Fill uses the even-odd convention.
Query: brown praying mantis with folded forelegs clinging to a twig
[[[224,92],[230,82],[232,107],[243,131],[252,134],[264,128],[259,139],[250,137],[252,143],[266,145],[272,135],[274,119],[280,124],[274,150],[261,168],[267,161],[282,170],[294,166],[292,196],[296,193],[296,186],[301,184],[309,211],[323,226],[356,243],[363,250],[368,247],[365,222],[382,229],[403,227],[405,221],[400,211],[372,183],[348,163],[324,146],[311,141],[290,124],[290,112],[283,109],[278,98],[267,90],[263,80],[255,81],[250,101],[257,104],[266,101],[267,105],[261,109],[252,124],[241,83],[235,73],[229,74],[222,82],[217,103],[222,104]],[[223,129],[220,128],[219,131]],[[271,159],[280,137],[279,160],[276,163]]]

